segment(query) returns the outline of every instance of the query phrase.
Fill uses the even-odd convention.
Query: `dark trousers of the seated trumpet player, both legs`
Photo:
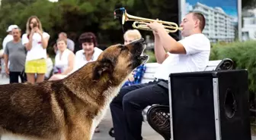
[[[168,89],[158,82],[120,89],[110,104],[116,140],[142,140],[142,110],[152,104],[169,104]]]

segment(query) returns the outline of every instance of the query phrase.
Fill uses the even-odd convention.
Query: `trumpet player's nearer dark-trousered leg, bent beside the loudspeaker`
[[[168,89],[154,84],[123,96],[126,140],[142,140],[142,110],[152,104],[168,104]],[[116,132],[115,132],[116,135]]]

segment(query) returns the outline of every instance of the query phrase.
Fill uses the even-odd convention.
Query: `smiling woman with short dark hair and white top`
[[[82,50],[75,53],[75,70],[85,66],[88,62],[96,61],[102,50],[97,48],[98,42],[94,33],[82,33],[79,37]]]

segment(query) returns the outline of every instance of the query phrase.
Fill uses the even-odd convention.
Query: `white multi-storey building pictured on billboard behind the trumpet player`
[[[203,33],[211,42],[232,42],[235,39],[235,24],[233,17],[226,14],[222,8],[209,7],[197,2],[191,11],[202,13],[206,18]]]

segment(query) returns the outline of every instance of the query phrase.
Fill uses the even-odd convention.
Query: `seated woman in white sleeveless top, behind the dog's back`
[[[49,80],[63,79],[74,69],[75,54],[67,48],[66,39],[57,40],[58,53],[55,56],[54,68],[58,71]]]

